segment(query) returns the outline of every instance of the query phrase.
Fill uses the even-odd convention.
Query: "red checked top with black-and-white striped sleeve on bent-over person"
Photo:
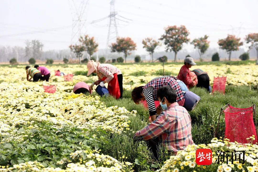
[[[156,95],[157,90],[162,87],[169,85],[176,91],[177,98],[176,101],[179,102],[184,99],[182,91],[176,78],[173,76],[162,76],[152,79],[148,84],[143,87],[143,95],[147,101],[150,116],[156,115],[156,107],[154,101],[158,101]]]

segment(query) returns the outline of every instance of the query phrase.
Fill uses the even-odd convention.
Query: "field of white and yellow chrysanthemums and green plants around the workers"
[[[200,63],[191,69],[214,76],[227,76],[225,95],[210,95],[192,88],[201,97],[192,119],[196,145],[177,155],[161,148],[158,160],[151,157],[144,142],[133,141],[134,133],[148,122],[148,110],[135,105],[131,90],[163,75],[161,63],[115,64],[123,73],[124,96],[74,94],[73,86],[87,77],[85,64],[44,65],[51,71],[50,82],[26,80],[25,65],[0,66],[0,171],[258,171],[257,141],[239,145],[224,139],[224,117],[214,136],[220,108],[226,103],[247,108],[258,104],[258,68],[245,64]],[[182,64],[165,64],[165,75],[176,76]],[[73,81],[54,76],[54,70],[73,74]],[[44,93],[43,85],[55,85],[54,94]],[[96,86],[94,86],[95,88]],[[258,119],[256,119],[258,122]],[[214,138],[216,137],[216,138]],[[195,150],[213,152],[212,165],[199,166]],[[215,163],[217,151],[245,151],[245,163]]]

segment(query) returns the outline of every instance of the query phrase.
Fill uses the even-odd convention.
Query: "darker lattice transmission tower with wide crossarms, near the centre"
[[[123,18],[123,19],[120,19],[118,17]],[[108,59],[107,50],[108,50],[109,44],[111,43],[112,40],[114,40],[118,37],[117,21],[116,20],[126,22],[126,23],[128,23],[129,21],[132,21],[131,19],[127,19],[127,18],[125,18],[121,15],[118,15],[118,13],[115,10],[115,0],[110,1],[110,14],[106,17],[101,18],[101,19],[92,21],[91,24],[100,22],[100,21],[108,19],[108,18],[109,18],[109,25],[108,25],[108,37],[107,37],[106,55],[105,55],[106,59]]]

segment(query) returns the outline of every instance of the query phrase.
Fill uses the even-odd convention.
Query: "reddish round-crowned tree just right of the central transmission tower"
[[[131,54],[130,51],[136,50],[136,44],[133,42],[133,40],[130,37],[127,37],[127,38],[118,37],[115,43],[111,43],[110,48],[111,48],[111,52],[124,53],[125,63],[126,63],[127,56]]]

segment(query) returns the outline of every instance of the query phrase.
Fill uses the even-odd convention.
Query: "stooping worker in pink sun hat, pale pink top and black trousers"
[[[94,60],[91,60],[87,64],[87,69],[87,76],[89,76],[91,73],[96,73],[96,75],[98,76],[98,80],[91,84],[91,89],[93,89],[94,85],[100,85],[101,87],[104,87],[104,84],[109,83],[114,78],[114,75],[117,74],[120,91],[119,98],[121,99],[123,97],[123,75],[117,67],[112,64],[100,64],[98,62],[95,62]],[[103,80],[103,78],[106,79]]]

